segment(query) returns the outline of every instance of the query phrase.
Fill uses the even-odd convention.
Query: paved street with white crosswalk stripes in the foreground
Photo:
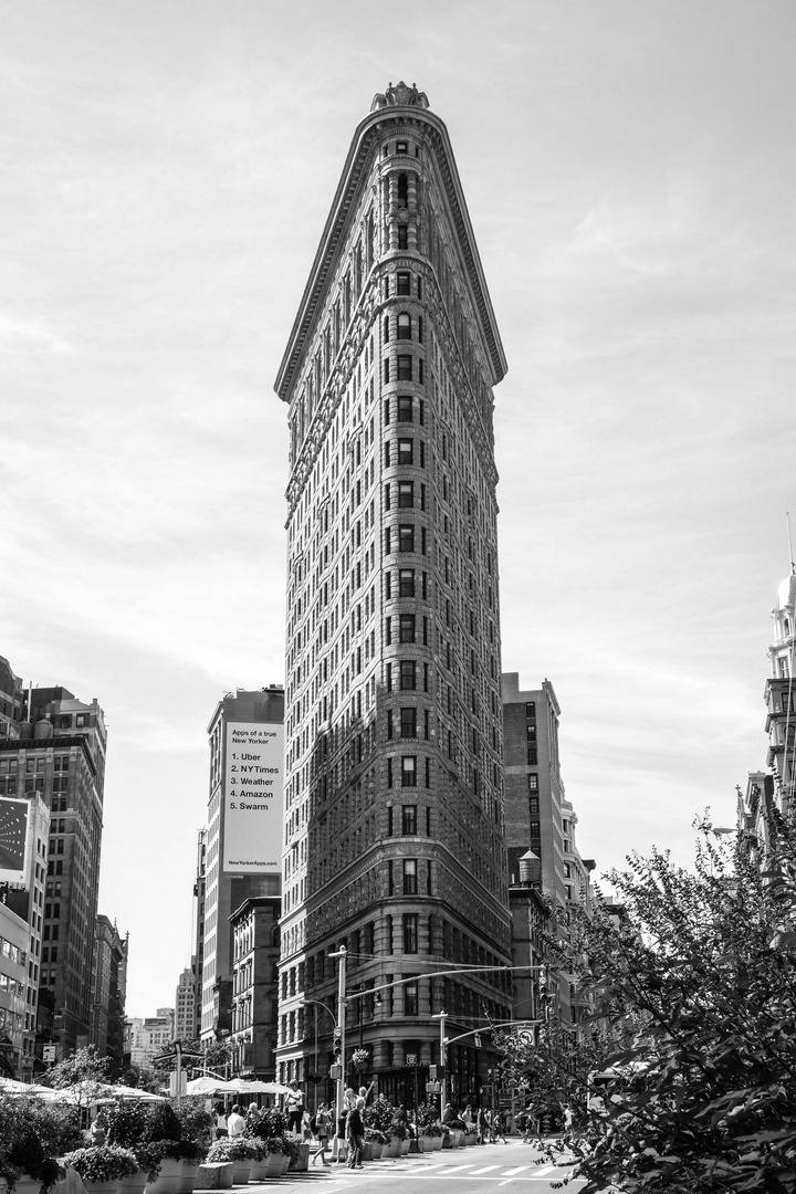
[[[353,1189],[378,1194],[548,1194],[550,1182],[560,1182],[569,1167],[550,1165],[530,1144],[510,1139],[508,1144],[474,1145],[467,1149],[445,1149],[443,1152],[365,1162],[363,1169],[329,1165],[307,1174],[285,1174],[258,1184],[259,1189],[278,1188],[284,1194],[308,1194],[310,1186],[316,1194],[350,1194]],[[566,1190],[576,1192],[582,1181],[573,1181]],[[254,1183],[249,1183],[249,1190]]]

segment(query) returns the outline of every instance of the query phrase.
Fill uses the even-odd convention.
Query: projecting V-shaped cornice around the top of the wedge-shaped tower
[[[298,380],[298,373],[311,341],[319,313],[322,310],[331,279],[334,276],[340,248],[345,244],[351,213],[356,210],[359,196],[368,181],[368,165],[376,146],[381,143],[381,135],[384,127],[391,124],[401,127],[411,124],[422,125],[430,136],[451,223],[458,238],[458,248],[467,269],[468,283],[475,309],[481,321],[485,344],[489,352],[493,368],[492,383],[496,384],[506,373],[506,358],[498,333],[498,325],[487,290],[470,216],[464,201],[464,192],[458,171],[456,170],[448,129],[433,112],[416,106],[381,107],[359,123],[351,148],[348,149],[343,174],[338,183],[309,279],[304,288],[274,382],[274,390],[283,401],[290,401],[290,394]]]

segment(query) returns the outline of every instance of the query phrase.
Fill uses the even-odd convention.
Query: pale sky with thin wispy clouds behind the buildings
[[[794,492],[790,0],[0,7],[0,654],[109,726],[128,1010],[191,952],[205,730],[284,676],[272,392],[356,124],[448,124],[508,359],[504,670],[581,851],[691,857],[765,758]]]

